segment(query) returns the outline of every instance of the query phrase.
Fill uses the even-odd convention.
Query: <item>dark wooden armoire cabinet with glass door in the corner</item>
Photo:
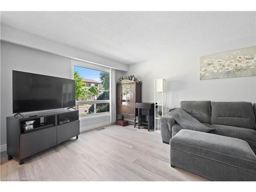
[[[141,83],[124,79],[116,84],[117,109],[118,115],[137,116],[135,103],[141,102]]]

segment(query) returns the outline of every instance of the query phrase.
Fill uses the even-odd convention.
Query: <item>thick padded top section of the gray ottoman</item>
[[[183,129],[170,139],[170,147],[256,174],[256,155],[242,139]]]

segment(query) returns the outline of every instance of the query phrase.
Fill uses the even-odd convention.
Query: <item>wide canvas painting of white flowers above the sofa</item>
[[[200,79],[256,76],[256,46],[200,58]]]

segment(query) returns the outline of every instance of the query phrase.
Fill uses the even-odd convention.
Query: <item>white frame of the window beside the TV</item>
[[[74,66],[110,73],[110,100],[76,101],[76,105],[77,104],[94,104],[94,113],[93,114],[83,115],[83,116],[80,116],[79,118],[87,118],[88,116],[102,116],[104,114],[110,115],[111,114],[111,70],[110,70],[110,68],[98,66],[98,65],[92,64],[90,62],[86,62],[86,61],[71,60],[71,78],[72,79],[74,79]],[[96,104],[97,103],[110,103],[110,111],[96,113]],[[111,115],[110,115],[110,117],[111,117]]]

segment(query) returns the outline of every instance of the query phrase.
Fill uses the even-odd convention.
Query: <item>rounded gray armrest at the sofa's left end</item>
[[[161,125],[161,137],[163,143],[168,143],[172,138],[172,127],[175,124],[175,119],[169,114],[164,115],[160,118]]]

